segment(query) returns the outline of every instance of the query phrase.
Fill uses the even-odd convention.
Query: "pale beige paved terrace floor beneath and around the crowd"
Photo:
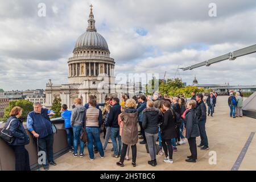
[[[174,163],[163,162],[164,156],[157,155],[158,165],[151,167],[147,164],[150,155],[146,153],[145,145],[137,144],[137,167],[131,166],[131,160],[125,160],[125,167],[119,167],[115,163],[118,159],[112,158],[110,151],[112,144],[109,144],[105,152],[105,158],[101,159],[99,154],[95,159],[89,160],[88,150],[85,147],[84,158],[73,158],[72,153],[67,153],[55,162],[57,166],[50,166],[50,170],[230,170],[236,162],[238,155],[245,145],[251,132],[256,131],[256,119],[230,118],[228,97],[220,96],[217,98],[217,105],[213,117],[207,119],[207,135],[210,150],[197,150],[197,163],[185,162],[186,156],[190,155],[188,144],[177,146],[178,151],[174,152]],[[102,136],[101,136],[102,137]],[[104,141],[102,137],[102,142]],[[197,138],[197,144],[200,137]],[[209,152],[216,152],[217,164],[209,164]],[[131,154],[130,154],[131,158]],[[256,170],[256,136],[243,159],[240,170]]]

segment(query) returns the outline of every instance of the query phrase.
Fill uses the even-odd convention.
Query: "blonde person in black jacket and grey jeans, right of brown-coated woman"
[[[148,160],[148,164],[156,166],[156,145],[155,142],[158,139],[158,124],[161,119],[161,113],[159,109],[154,107],[154,102],[147,101],[147,108],[142,111],[143,121],[142,127],[145,131],[148,151],[150,152],[151,160]]]

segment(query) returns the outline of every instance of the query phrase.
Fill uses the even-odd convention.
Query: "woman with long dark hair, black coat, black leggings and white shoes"
[[[169,101],[163,102],[163,108],[166,110],[164,113],[164,121],[161,127],[161,137],[162,137],[162,146],[164,149],[164,154],[166,157],[164,158],[165,163],[174,163],[172,160],[172,144],[171,139],[177,137],[176,129],[175,129],[175,115],[174,111],[171,110],[171,104]],[[168,155],[169,153],[169,155]]]

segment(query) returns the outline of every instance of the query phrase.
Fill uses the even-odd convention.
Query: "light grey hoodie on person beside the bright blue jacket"
[[[71,115],[71,126],[80,126],[84,125],[84,117],[85,117],[85,107],[82,105],[77,105]]]

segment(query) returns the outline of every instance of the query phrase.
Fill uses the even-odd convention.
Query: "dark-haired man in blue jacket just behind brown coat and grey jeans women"
[[[143,140],[139,143],[140,144],[146,144],[147,143],[146,135],[145,135],[144,129],[142,127],[142,121],[143,121],[142,111],[144,109],[146,109],[146,107],[147,107],[146,96],[144,96],[144,95],[139,96],[138,101],[141,103],[141,105],[139,105],[139,107],[137,108],[137,111],[138,111],[139,127],[141,128],[141,134],[142,134],[142,137],[143,137]]]

